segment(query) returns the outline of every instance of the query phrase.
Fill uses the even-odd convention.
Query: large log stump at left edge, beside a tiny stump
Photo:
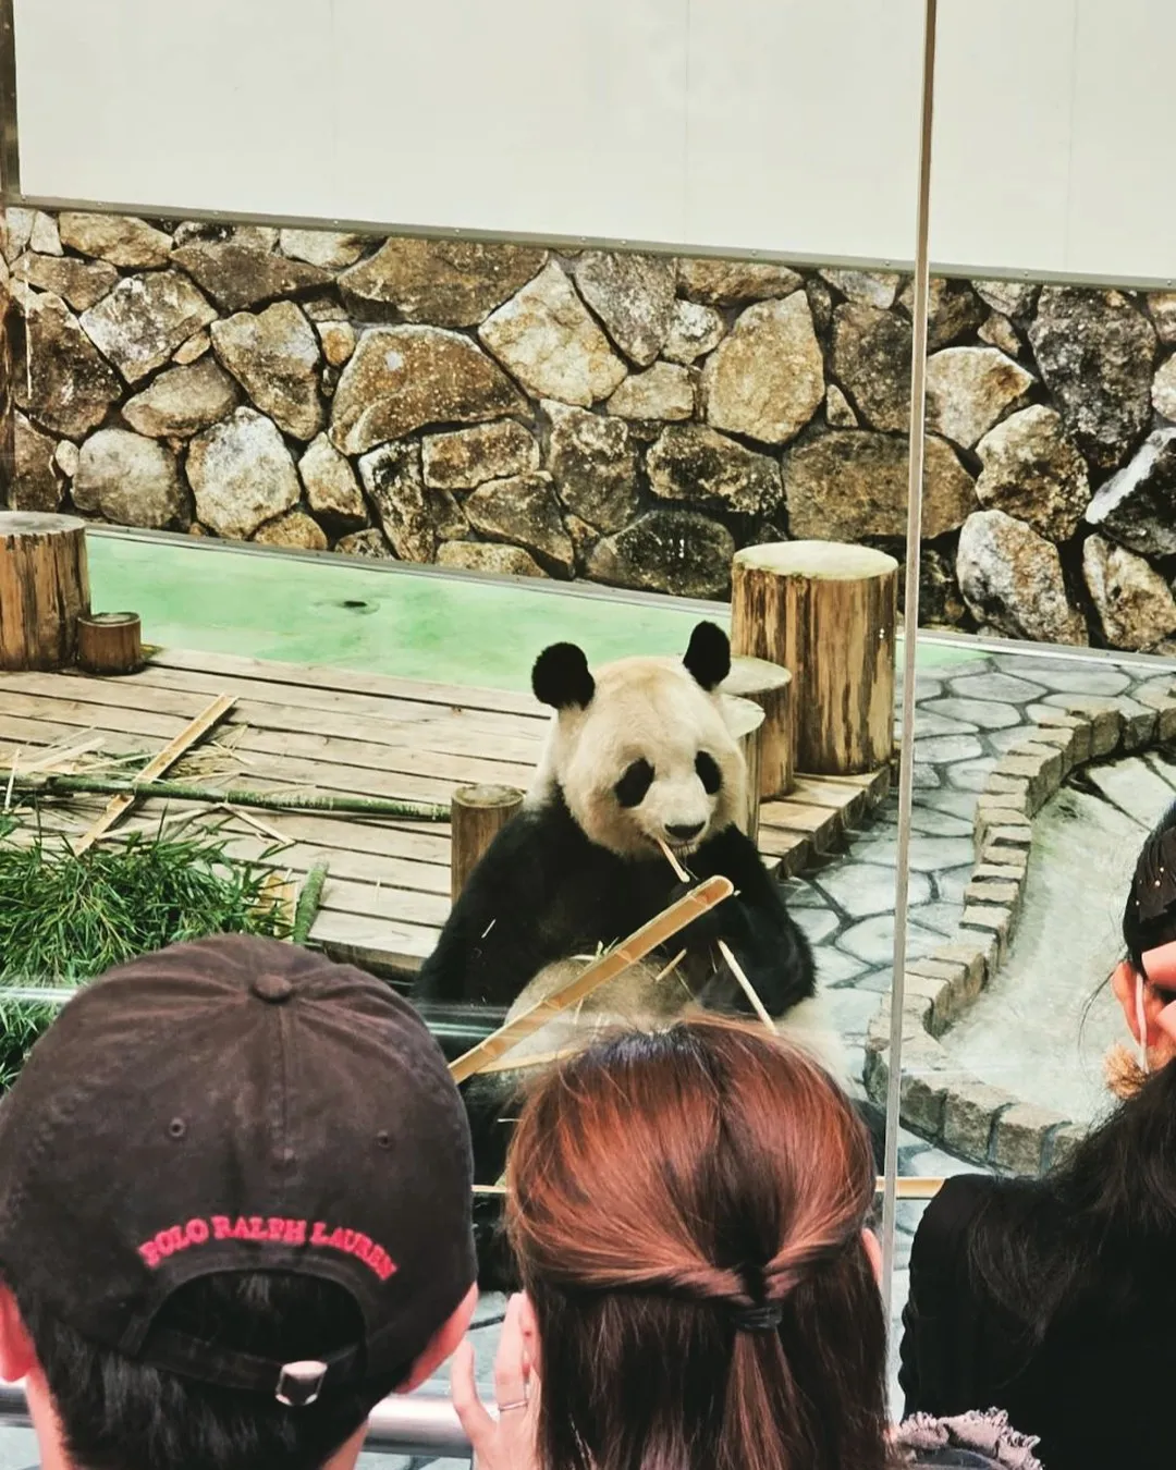
[[[0,669],[65,669],[88,612],[85,522],[0,512]]]

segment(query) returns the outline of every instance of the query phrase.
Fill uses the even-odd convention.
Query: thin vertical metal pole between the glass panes
[[[919,212],[914,244],[914,309],[910,366],[910,481],[907,485],[907,579],[903,622],[903,748],[898,764],[898,851],[894,889],[894,980],[886,1086],[885,1188],[882,1192],[882,1299],[891,1314],[898,1208],[898,1110],[903,1086],[903,1001],[907,969],[907,889],[910,816],[914,794],[914,681],[919,647],[919,563],[923,522],[923,431],[928,365],[928,237],[931,226],[931,138],[935,106],[935,24],[938,0],[926,0],[923,29],[923,110],[919,135]]]

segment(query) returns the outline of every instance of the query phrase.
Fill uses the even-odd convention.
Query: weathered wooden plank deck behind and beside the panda
[[[419,684],[347,669],[263,663],[165,651],[118,679],[79,673],[0,673],[0,767],[43,759],[47,747],[101,736],[101,754],[157,754],[218,695],[235,697],[198,747],[228,784],[313,788],[368,797],[447,803],[454,786],[526,786],[550,711],[529,695]],[[178,767],[184,779],[194,779]],[[800,778],[786,801],[761,807],[760,850],[792,875],[829,850],[886,792],[889,773]],[[81,833],[106,798],[54,803]],[[175,810],[176,803],[171,804]],[[119,831],[159,822],[163,804],[143,801]],[[448,826],[354,816],[220,813],[232,850],[259,857],[276,836],[276,858],[304,873],[329,861],[312,938],[340,958],[410,976],[429,954],[450,908]],[[56,820],[54,820],[56,825]]]

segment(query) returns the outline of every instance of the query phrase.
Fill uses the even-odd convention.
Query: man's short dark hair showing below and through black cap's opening
[[[78,1470],[320,1470],[412,1369],[287,1408],[272,1395],[179,1377],[94,1345],[19,1285],[13,1291]],[[288,1361],[363,1338],[347,1291],[279,1272],[188,1282],[156,1324]]]

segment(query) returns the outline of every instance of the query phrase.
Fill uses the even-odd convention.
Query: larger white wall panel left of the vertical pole
[[[15,0],[22,188],[910,256],[922,0]]]

